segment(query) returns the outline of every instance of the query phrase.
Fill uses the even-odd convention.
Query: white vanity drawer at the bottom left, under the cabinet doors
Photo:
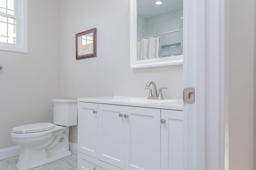
[[[110,164],[78,152],[78,170],[122,170]]]

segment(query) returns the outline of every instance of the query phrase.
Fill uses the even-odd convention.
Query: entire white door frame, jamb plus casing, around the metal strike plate
[[[184,88],[194,87],[196,99],[184,104],[184,170],[225,166],[224,2],[184,0]]]

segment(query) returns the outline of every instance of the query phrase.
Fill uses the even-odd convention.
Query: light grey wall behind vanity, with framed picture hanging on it
[[[58,98],[147,97],[156,82],[165,98],[182,98],[182,66],[132,70],[129,53],[129,0],[58,1]],[[97,28],[97,57],[76,60],[75,34]],[[70,128],[77,143],[77,127]]]

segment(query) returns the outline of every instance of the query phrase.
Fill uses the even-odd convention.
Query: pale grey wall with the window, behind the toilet
[[[57,0],[28,0],[28,54],[0,51],[0,149],[12,128],[52,122],[57,97]],[[47,9],[47,10],[46,10]]]

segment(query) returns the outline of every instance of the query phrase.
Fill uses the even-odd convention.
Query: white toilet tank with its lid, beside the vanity
[[[77,124],[77,100],[52,99],[53,123],[61,126]]]

